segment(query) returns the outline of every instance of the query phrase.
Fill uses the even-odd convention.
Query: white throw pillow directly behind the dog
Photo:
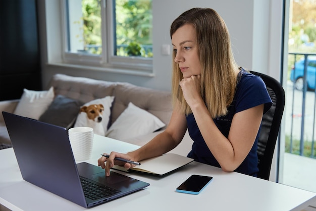
[[[85,106],[88,107],[91,104],[103,105],[104,110],[101,115],[102,121],[95,122],[93,120],[90,120],[87,116],[87,113],[80,112],[78,114],[74,127],[92,127],[93,132],[95,134],[104,136],[108,130],[113,100],[114,100],[114,96],[106,96],[104,98],[94,99],[94,100],[91,100],[90,102],[85,103],[81,108]]]

